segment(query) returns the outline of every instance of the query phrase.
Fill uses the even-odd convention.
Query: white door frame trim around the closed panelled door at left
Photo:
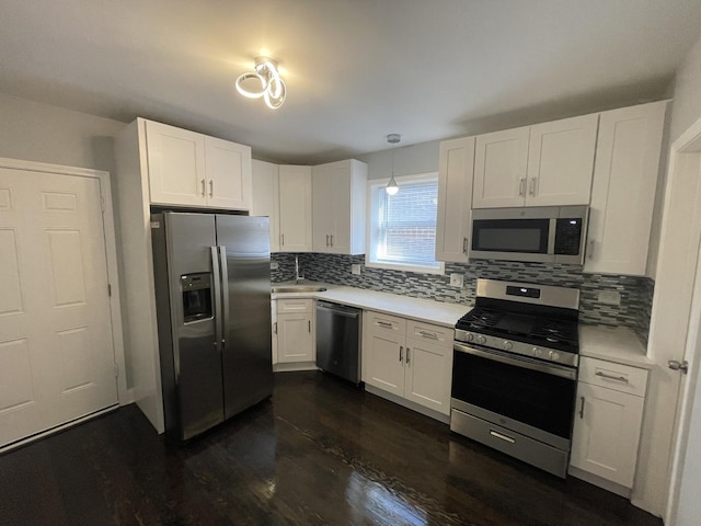
[[[112,294],[110,295],[110,316],[112,321],[112,346],[114,348],[114,362],[117,368],[117,377],[115,378],[117,384],[117,400],[119,402],[119,405],[127,405],[131,403],[134,401],[133,395],[130,389],[128,389],[127,387],[126,378],[124,333],[122,327],[122,301],[119,298],[119,276],[117,271],[117,242],[115,236],[114,208],[112,204],[110,172],[0,157],[0,169],[2,168],[26,172],[41,172],[47,174],[89,178],[99,181],[100,196],[102,201],[102,225],[105,241],[105,259],[107,262],[107,281],[112,288]],[[56,430],[50,430],[50,432],[54,431]]]

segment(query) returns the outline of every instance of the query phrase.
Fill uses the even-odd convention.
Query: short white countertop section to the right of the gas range
[[[581,356],[652,369],[655,363],[645,353],[645,346],[628,327],[579,324]]]

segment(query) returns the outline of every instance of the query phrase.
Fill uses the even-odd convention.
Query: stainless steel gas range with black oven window
[[[564,478],[578,308],[574,288],[478,279],[456,325],[450,428]]]

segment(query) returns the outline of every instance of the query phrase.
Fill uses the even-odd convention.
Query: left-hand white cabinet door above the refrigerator
[[[146,122],[152,204],[206,206],[205,136]]]

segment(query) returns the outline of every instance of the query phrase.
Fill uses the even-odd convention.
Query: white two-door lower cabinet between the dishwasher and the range
[[[363,380],[438,413],[450,414],[452,329],[366,311]]]

